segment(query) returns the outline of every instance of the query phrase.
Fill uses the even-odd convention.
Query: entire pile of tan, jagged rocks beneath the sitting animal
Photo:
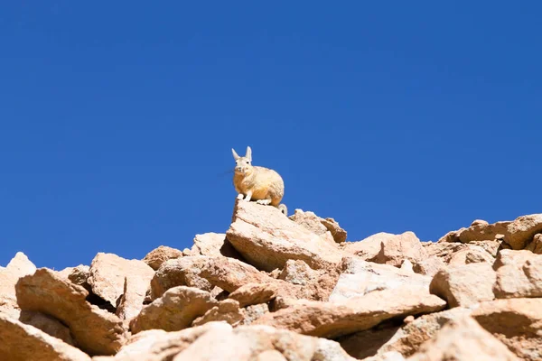
[[[540,360],[542,215],[438,242],[346,242],[237,201],[226,234],[143,260],[0,268],[2,360]]]

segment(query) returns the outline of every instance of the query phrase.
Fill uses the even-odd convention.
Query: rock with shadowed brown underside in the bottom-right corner
[[[481,302],[472,318],[522,360],[542,359],[542,299]]]

